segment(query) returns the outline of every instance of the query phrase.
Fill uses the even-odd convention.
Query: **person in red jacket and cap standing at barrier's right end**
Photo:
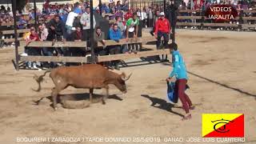
[[[154,37],[158,39],[157,41],[157,49],[160,48],[161,38],[164,38],[164,46],[168,46],[169,42],[169,34],[170,34],[170,22],[167,18],[165,18],[164,12],[160,13],[160,18],[155,24]]]

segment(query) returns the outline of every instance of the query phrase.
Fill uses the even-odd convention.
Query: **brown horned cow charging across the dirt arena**
[[[56,110],[57,96],[61,90],[66,89],[67,86],[74,86],[75,88],[90,89],[90,102],[92,102],[94,89],[105,88],[106,96],[102,98],[102,104],[105,104],[106,98],[109,96],[109,84],[114,84],[126,93],[126,81],[131,74],[126,78],[126,74],[116,74],[110,70],[106,70],[101,65],[86,64],[82,66],[62,66],[53,70],[46,70],[41,76],[34,76],[38,82],[38,90],[41,90],[41,82],[46,73],[50,72],[50,78],[53,80],[55,87],[52,89],[52,98],[54,102],[54,110]]]

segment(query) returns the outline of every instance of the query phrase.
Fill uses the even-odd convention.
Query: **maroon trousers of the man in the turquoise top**
[[[190,112],[190,106],[192,106],[192,102],[185,93],[186,82],[186,79],[178,79],[175,83],[175,90],[178,90],[178,98],[181,100],[182,107],[186,111],[186,114],[188,114]]]

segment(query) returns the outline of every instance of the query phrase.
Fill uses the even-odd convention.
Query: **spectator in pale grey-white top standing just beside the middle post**
[[[96,26],[95,18],[93,18],[94,22],[94,28]],[[90,7],[86,7],[86,12],[82,14],[82,17],[80,19],[80,22],[82,24],[82,33],[83,33],[83,40],[88,41],[90,39]]]

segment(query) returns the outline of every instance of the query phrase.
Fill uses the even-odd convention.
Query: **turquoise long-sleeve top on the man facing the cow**
[[[171,71],[169,77],[175,77],[177,79],[188,79],[186,74],[186,65],[182,58],[182,55],[178,52],[178,50],[175,50],[172,54],[173,57],[173,70]]]

